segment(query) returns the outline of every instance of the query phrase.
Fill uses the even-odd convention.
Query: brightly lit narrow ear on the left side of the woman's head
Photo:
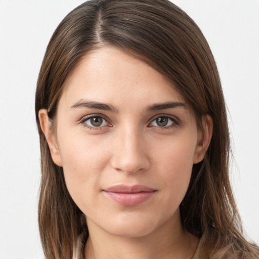
[[[62,160],[60,157],[56,135],[53,132],[53,128],[51,128],[48,111],[46,109],[40,109],[38,112],[38,118],[39,118],[41,130],[44,133],[45,138],[48,142],[48,145],[51,151],[52,160],[56,165],[62,166]]]

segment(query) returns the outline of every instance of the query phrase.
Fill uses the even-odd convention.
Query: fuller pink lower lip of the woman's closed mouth
[[[144,201],[151,198],[156,191],[152,192],[138,192],[138,193],[118,193],[118,192],[106,192],[104,191],[105,196],[114,200],[123,206],[133,207],[137,206]]]

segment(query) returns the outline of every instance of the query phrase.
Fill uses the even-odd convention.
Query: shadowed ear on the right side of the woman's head
[[[201,118],[202,128],[198,130],[197,146],[193,158],[193,163],[199,163],[205,156],[213,132],[213,121],[209,115],[203,115]]]

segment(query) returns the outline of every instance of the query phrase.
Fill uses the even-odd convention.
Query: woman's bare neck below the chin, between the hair
[[[155,231],[137,237],[112,235],[91,220],[87,222],[90,236],[85,259],[191,259],[199,241],[183,229],[180,213]]]

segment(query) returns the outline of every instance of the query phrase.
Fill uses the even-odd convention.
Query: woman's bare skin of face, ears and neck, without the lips
[[[112,109],[81,105],[89,101]],[[168,102],[178,106],[154,107]],[[92,115],[100,126],[91,124]],[[163,75],[103,47],[85,55],[69,74],[55,130],[46,110],[39,119],[53,161],[63,166],[68,191],[87,219],[85,257],[192,257],[198,239],[183,229],[179,205],[192,166],[209,145],[209,116],[203,116],[199,130],[192,110]],[[103,192],[118,184],[141,184],[155,193],[141,204],[123,206]]]

